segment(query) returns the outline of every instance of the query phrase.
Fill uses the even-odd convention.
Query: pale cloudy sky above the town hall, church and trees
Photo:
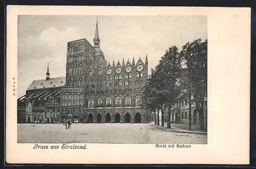
[[[100,48],[112,64],[148,57],[148,73],[165,51],[207,38],[206,16],[18,16],[18,98],[33,80],[66,76],[67,42],[86,38],[93,44],[96,18]]]

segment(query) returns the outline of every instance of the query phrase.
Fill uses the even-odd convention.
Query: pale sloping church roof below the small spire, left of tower
[[[60,87],[60,86],[64,86],[65,83],[66,83],[66,77],[50,78],[49,80],[46,80],[46,79],[34,80],[29,86],[28,90]]]

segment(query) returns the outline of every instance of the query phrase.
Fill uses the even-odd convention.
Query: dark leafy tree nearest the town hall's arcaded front
[[[178,48],[169,47],[148,80],[148,84],[156,90],[156,109],[161,110],[161,126],[164,126],[164,110],[167,107],[167,128],[170,128],[170,107],[180,94],[180,69],[181,58]]]

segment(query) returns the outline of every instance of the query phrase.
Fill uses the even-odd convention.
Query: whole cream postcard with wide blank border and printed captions
[[[7,7],[8,163],[248,164],[249,87],[249,8]]]

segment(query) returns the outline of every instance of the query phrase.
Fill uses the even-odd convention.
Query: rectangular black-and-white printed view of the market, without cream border
[[[206,16],[18,16],[19,143],[207,143]]]

